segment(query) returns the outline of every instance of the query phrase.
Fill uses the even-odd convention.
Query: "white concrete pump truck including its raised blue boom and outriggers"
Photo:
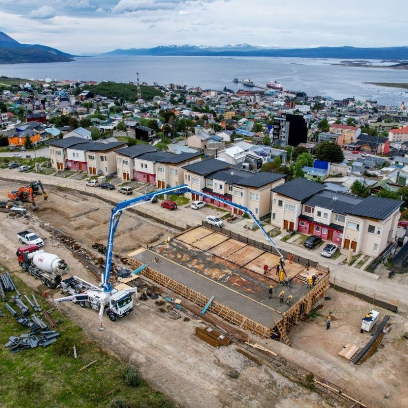
[[[113,244],[120,215],[122,214],[123,210],[135,207],[136,205],[154,203],[155,200],[157,201],[158,196],[162,194],[170,194],[171,192],[175,191],[178,191],[181,194],[188,192],[192,194],[197,194],[199,196],[207,197],[213,200],[217,200],[231,207],[237,208],[238,210],[241,210],[244,213],[247,213],[254,220],[256,225],[263,232],[265,237],[268,239],[268,241],[271,243],[273,248],[280,256],[280,264],[282,269],[285,271],[283,255],[281,254],[279,248],[277,248],[272,238],[265,231],[264,227],[255,217],[254,213],[251,210],[244,207],[243,205],[223,200],[219,197],[212,196],[211,194],[204,193],[203,191],[193,190],[189,188],[186,184],[184,184],[182,186],[165,188],[163,190],[155,191],[150,194],[145,194],[140,197],[134,197],[131,198],[130,200],[122,201],[118,203],[116,207],[112,208],[111,217],[109,221],[108,241],[106,245],[105,268],[104,272],[102,273],[100,288],[97,288],[96,286],[74,276],[74,278],[68,278],[66,280],[61,281],[61,287],[63,289],[63,292],[65,291],[65,293],[70,293],[70,296],[55,299],[54,302],[58,303],[71,301],[74,303],[79,303],[80,306],[82,307],[88,306],[92,307],[95,310],[99,309],[99,319],[101,322],[101,328],[102,328],[102,316],[105,310],[109,316],[109,319],[112,321],[115,321],[117,320],[117,318],[121,318],[126,314],[130,313],[133,310],[132,293],[136,292],[137,297],[137,288],[121,289],[118,291],[117,289],[114,289],[110,283]],[[137,270],[135,272],[137,273]]]

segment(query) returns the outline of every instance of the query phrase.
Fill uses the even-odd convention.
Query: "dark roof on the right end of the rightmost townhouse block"
[[[369,196],[347,211],[347,214],[385,220],[402,204],[404,202],[400,200]]]

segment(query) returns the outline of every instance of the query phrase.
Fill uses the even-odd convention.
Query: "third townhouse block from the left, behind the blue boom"
[[[249,208],[258,218],[271,211],[271,189],[285,182],[285,174],[237,170],[218,159],[203,160],[183,169],[184,183],[188,187],[215,196],[211,199],[199,193],[188,193],[189,199],[203,200],[242,215],[241,210],[216,200],[221,198]]]

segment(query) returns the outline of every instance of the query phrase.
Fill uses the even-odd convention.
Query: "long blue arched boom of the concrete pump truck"
[[[113,290],[112,285],[109,282],[110,279],[110,272],[111,272],[111,267],[112,267],[112,255],[113,255],[113,241],[115,238],[115,232],[116,228],[118,227],[119,223],[119,218],[120,215],[122,214],[123,210],[126,210],[131,207],[135,207],[136,205],[141,205],[141,204],[146,204],[150,203],[154,197],[158,197],[162,194],[170,194],[170,193],[192,193],[199,195],[201,197],[207,197],[212,200],[219,201],[221,203],[230,205],[233,208],[237,208],[238,210],[241,210],[245,213],[247,213],[255,222],[255,224],[259,227],[259,229],[264,233],[265,237],[268,239],[268,241],[271,243],[273,248],[275,248],[276,252],[279,254],[280,259],[281,259],[281,266],[284,269],[283,265],[283,255],[279,251],[279,248],[275,245],[273,242],[272,238],[269,236],[269,234],[265,231],[264,227],[261,225],[259,220],[255,217],[254,213],[248,209],[247,207],[244,207],[243,205],[240,204],[235,204],[231,201],[224,200],[220,197],[215,197],[211,194],[204,193],[203,191],[197,191],[193,190],[190,187],[187,186],[187,184],[184,184],[182,186],[177,186],[177,187],[170,187],[170,188],[165,188],[163,190],[159,191],[154,191],[153,193],[145,194],[140,197],[135,197],[131,198],[130,200],[122,201],[121,203],[118,203],[118,205],[114,208],[112,208],[112,213],[111,213],[111,218],[109,222],[109,234],[108,234],[108,242],[106,245],[106,262],[105,262],[105,270],[102,274],[102,288],[103,291],[105,292],[111,292]]]

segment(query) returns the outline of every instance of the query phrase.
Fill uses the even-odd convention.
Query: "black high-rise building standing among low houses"
[[[273,119],[272,145],[297,146],[307,141],[307,125],[302,115],[284,113]]]

